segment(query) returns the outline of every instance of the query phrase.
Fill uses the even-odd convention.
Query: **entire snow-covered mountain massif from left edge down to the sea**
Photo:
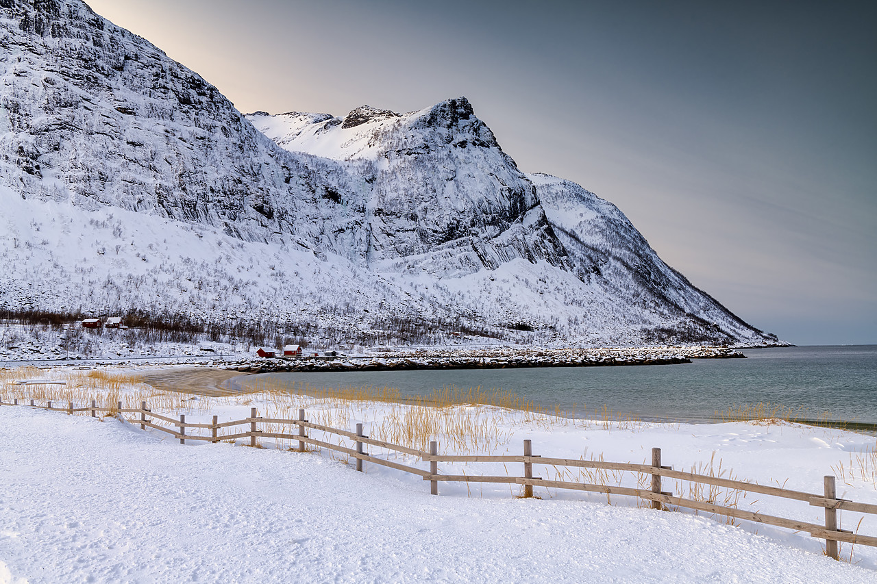
[[[0,2],[0,308],[346,342],[775,343],[465,98],[256,112],[79,0]]]

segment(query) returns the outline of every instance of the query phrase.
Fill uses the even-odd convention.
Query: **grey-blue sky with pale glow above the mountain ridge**
[[[877,343],[877,4],[87,0],[239,110],[467,96],[799,345]]]

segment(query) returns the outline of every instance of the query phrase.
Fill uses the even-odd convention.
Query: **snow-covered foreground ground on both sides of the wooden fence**
[[[155,410],[186,413],[187,422],[210,422],[214,414],[239,419],[251,407],[260,416],[290,417],[304,407],[312,421],[343,429],[364,422],[367,434],[383,439],[414,419],[412,427],[424,431],[408,444],[434,436],[442,453],[517,454],[529,438],[543,456],[644,462],[660,446],[664,464],[677,469],[712,468],[817,493],[824,474],[838,474],[839,496],[877,502],[873,437],[845,431],[570,421],[488,406],[429,413],[276,394],[149,399]],[[435,497],[414,475],[368,463],[358,474],[327,452],[262,445],[179,445],[115,418],[0,407],[0,582],[877,579],[877,550],[863,546],[851,566],[824,557],[820,541],[807,534],[545,488],[535,489],[540,499],[524,500],[515,496],[517,486],[439,483]],[[426,468],[411,457],[396,461]],[[439,471],[520,475],[517,466],[439,463]],[[557,476],[552,467],[534,471]],[[592,478],[636,485],[630,474]],[[664,489],[691,495],[675,481]],[[737,504],[823,519],[822,509],[762,495],[738,497]],[[842,527],[867,535],[877,531],[874,520],[858,524],[859,516],[841,513]],[[849,559],[848,545],[841,555]]]

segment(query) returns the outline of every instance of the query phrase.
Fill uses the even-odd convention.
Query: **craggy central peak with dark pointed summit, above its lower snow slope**
[[[405,115],[363,106],[343,120],[264,112],[250,119],[290,152],[355,161],[370,185],[374,269],[456,275],[514,258],[562,263],[533,186],[465,97]]]

